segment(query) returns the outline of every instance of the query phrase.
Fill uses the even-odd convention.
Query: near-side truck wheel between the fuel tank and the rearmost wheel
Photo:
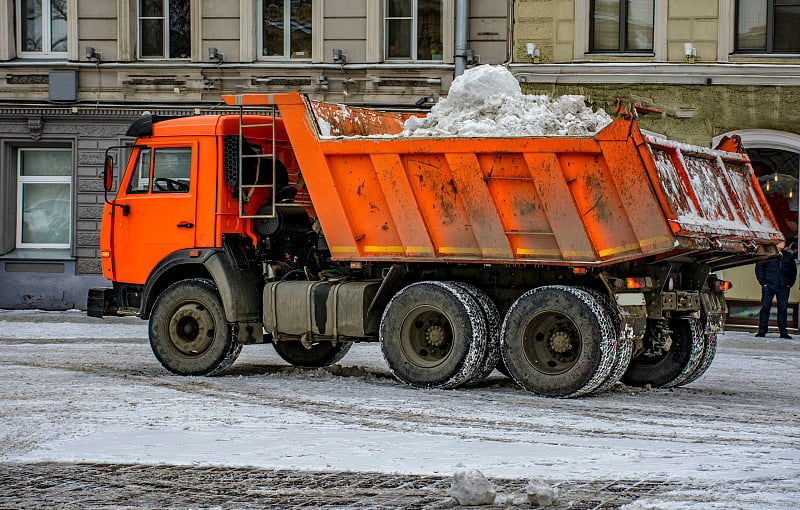
[[[480,305],[450,282],[412,283],[381,317],[381,349],[400,381],[418,388],[455,388],[472,377],[486,348]]]

